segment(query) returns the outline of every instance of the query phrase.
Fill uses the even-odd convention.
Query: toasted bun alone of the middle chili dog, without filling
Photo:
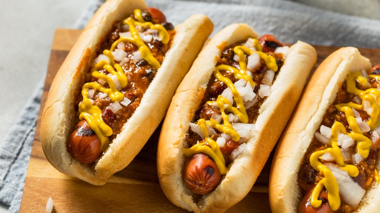
[[[217,33],[198,55],[178,87],[162,126],[157,150],[158,177],[165,195],[175,205],[194,212],[222,212],[243,199],[261,172],[270,151],[301,95],[317,59],[304,42],[291,47],[284,66],[272,85],[272,93],[260,107],[256,129],[247,141],[247,152],[235,159],[215,190],[195,202],[183,180],[189,122],[192,122],[223,49],[258,35],[247,24],[232,24]],[[281,109],[281,110],[279,110]]]

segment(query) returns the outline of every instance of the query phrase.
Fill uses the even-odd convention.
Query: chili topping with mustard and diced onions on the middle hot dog
[[[277,46],[267,47],[266,43]],[[259,40],[248,38],[222,51],[194,114],[194,123],[190,123],[188,148],[182,150],[188,159],[202,153],[216,163],[218,173],[227,173],[228,165],[246,149],[258,110],[284,64],[289,48],[282,46],[274,36],[263,35]],[[195,194],[204,195],[213,189],[193,190],[191,187],[199,189],[200,183],[184,178],[187,188]]]

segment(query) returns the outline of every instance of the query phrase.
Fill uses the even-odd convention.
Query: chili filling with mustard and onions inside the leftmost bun
[[[157,11],[154,10],[164,17]],[[95,132],[95,141],[100,145],[86,145],[99,149],[90,159],[81,157],[80,152],[84,153],[82,149],[86,147],[78,141],[83,141],[83,137],[75,137],[81,136],[77,126],[69,138],[68,151],[79,162],[94,162],[108,148],[139,106],[160,68],[175,31],[171,23],[160,22],[154,16],[151,21],[149,11],[136,9],[129,18],[115,23],[113,32],[101,44],[102,54],[93,62],[91,82],[82,87],[78,110],[80,124]]]

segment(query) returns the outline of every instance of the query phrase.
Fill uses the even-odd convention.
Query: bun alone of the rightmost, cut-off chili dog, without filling
[[[370,61],[358,49],[344,47],[330,54],[315,71],[277,144],[269,179],[272,212],[297,212],[302,199],[297,184],[300,163],[326,109],[334,102],[349,72],[370,69]],[[361,200],[358,212],[377,212],[378,194],[378,184],[373,184]]]

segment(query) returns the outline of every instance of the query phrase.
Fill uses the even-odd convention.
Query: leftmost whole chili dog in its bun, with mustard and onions
[[[173,27],[143,0],[108,0],[57,72],[41,121],[42,148],[60,172],[104,184],[163,119],[212,31],[206,16]]]

